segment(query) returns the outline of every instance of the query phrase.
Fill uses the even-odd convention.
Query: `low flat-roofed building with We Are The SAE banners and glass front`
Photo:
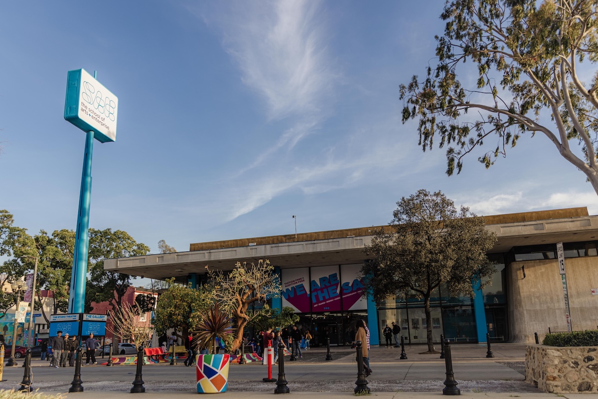
[[[496,264],[493,283],[474,297],[452,297],[441,286],[432,297],[432,333],[453,342],[492,340],[532,342],[551,331],[566,331],[565,299],[557,243],[565,254],[570,324],[573,330],[598,325],[598,216],[586,208],[487,216],[486,228],[498,236],[489,258]],[[154,279],[175,277],[193,287],[205,281],[205,266],[231,270],[237,261],[268,259],[282,285],[271,306],[292,307],[313,343],[350,343],[355,320],[365,319],[371,342],[396,322],[407,342],[426,342],[423,301],[397,292],[383,303],[362,296],[359,270],[373,232],[385,227],[334,230],[218,242],[192,243],[189,252],[106,260],[112,272]],[[475,289],[475,286],[474,286]]]

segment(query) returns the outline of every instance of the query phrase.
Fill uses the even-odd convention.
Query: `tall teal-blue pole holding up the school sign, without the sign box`
[[[89,209],[91,204],[91,155],[93,154],[93,135],[87,132],[81,191],[79,194],[79,212],[77,231],[75,232],[75,253],[71,273],[71,291],[69,292],[69,313],[83,313],[85,307],[85,285],[87,282],[87,252],[89,251]]]

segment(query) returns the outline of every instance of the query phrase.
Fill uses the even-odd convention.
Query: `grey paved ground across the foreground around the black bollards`
[[[454,377],[459,383],[462,396],[474,399],[482,397],[553,397],[539,392],[524,382],[521,373],[525,345],[496,344],[492,350],[495,358],[486,358],[486,345],[453,345]],[[446,379],[445,361],[440,354],[422,354],[425,345],[405,346],[407,360],[400,360],[400,348],[373,347],[370,351],[371,367],[374,372],[367,378],[373,395],[383,398],[428,399],[440,395]],[[437,348],[439,349],[439,348]],[[355,349],[350,347],[331,348],[332,361],[325,361],[325,348],[304,351],[303,359],[289,361],[285,358],[285,374],[293,395],[312,397],[346,397],[352,395],[356,380]],[[98,361],[100,361],[98,359]],[[68,392],[74,375],[74,367],[51,368],[41,360],[32,361],[33,388],[43,392]],[[517,366],[517,367],[515,367]],[[22,380],[22,367],[4,368],[4,381],[0,389],[18,388]],[[78,397],[99,398],[130,395],[136,368],[117,365],[84,366],[81,379],[85,391],[71,394]],[[267,367],[260,364],[231,364],[228,392],[221,397],[244,398],[273,394],[275,384],[263,383]],[[273,370],[277,376],[277,368]],[[195,368],[169,364],[148,364],[143,368],[145,395],[185,395],[196,393]],[[314,393],[317,392],[317,393]],[[71,396],[69,395],[69,396]],[[315,398],[314,398],[315,399]]]

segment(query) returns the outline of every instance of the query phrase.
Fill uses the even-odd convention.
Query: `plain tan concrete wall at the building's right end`
[[[526,278],[521,267],[525,266]],[[598,325],[598,257],[565,260],[569,308],[574,331],[595,330]],[[509,324],[514,342],[540,342],[548,327],[567,331],[563,285],[557,260],[514,262],[508,267]]]

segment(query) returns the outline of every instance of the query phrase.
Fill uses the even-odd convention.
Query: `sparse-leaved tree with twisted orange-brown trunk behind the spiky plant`
[[[269,260],[259,260],[258,264],[237,262],[231,272],[210,270],[216,300],[235,320],[235,336],[231,350],[236,351],[243,340],[243,330],[252,318],[265,313],[270,315],[270,307],[248,310],[249,305],[265,304],[270,297],[280,296],[280,282],[274,274],[274,266]]]

